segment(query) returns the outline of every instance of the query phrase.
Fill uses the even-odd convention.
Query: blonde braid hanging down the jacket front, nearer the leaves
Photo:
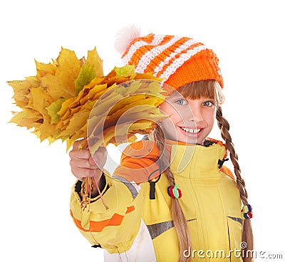
[[[162,169],[165,169],[165,174],[167,175],[167,179],[170,182],[170,186],[175,186],[175,178],[173,173],[170,170],[170,160],[165,150],[165,137],[159,126],[157,126],[153,132],[153,137],[155,139],[157,148],[160,150],[160,158],[162,161]],[[187,221],[185,219],[185,215],[180,206],[180,202],[178,199],[172,199],[171,213],[173,224],[175,226],[178,240],[179,240],[179,260],[178,262],[187,262],[190,261],[189,258],[184,256],[184,251],[190,250],[190,233],[187,226]]]

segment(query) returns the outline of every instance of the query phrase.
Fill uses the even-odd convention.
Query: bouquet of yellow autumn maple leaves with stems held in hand
[[[36,62],[36,75],[9,81],[15,104],[10,122],[27,127],[41,141],[76,140],[94,154],[100,146],[133,142],[165,117],[157,108],[165,99],[160,79],[135,73],[133,66],[113,68],[103,74],[103,61],[96,49],[78,59],[62,48],[52,63]],[[83,181],[83,208],[88,206],[95,179]],[[99,190],[100,194],[100,190]]]

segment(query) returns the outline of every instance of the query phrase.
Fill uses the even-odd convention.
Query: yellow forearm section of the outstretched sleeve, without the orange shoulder
[[[109,253],[128,251],[140,229],[142,217],[142,193],[140,186],[129,183],[127,187],[118,179],[105,175],[103,199],[90,199],[90,209],[81,209],[81,196],[76,184],[71,194],[71,216],[77,228],[92,245],[100,245]],[[130,190],[132,189],[132,190]]]

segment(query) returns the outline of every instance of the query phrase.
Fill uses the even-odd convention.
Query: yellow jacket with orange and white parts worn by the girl
[[[242,261],[240,243],[242,232],[242,202],[232,177],[221,170],[219,160],[227,155],[221,143],[202,145],[168,145],[170,169],[182,191],[180,205],[190,230],[191,251],[185,251],[191,261]],[[143,150],[151,142],[139,142]],[[136,147],[136,146],[135,146]],[[134,148],[135,148],[134,147]],[[167,194],[169,182],[164,173],[155,183],[155,199],[150,199],[150,183],[140,182],[145,159],[157,168],[157,152],[143,159],[123,154],[122,165],[113,179],[105,175],[103,198],[91,199],[90,211],[81,210],[78,182],[71,194],[71,216],[83,236],[92,245],[105,249],[105,261],[177,261],[179,245],[172,223],[171,197]],[[128,152],[128,149],[125,151]],[[138,153],[140,154],[140,153]],[[218,164],[219,162],[219,164]],[[130,172],[128,164],[141,172]],[[129,166],[130,166],[129,165]],[[129,173],[124,175],[122,172]],[[227,173],[228,170],[227,170]],[[132,174],[132,175],[130,175]],[[133,177],[132,177],[133,176]],[[157,174],[156,174],[157,177]],[[152,177],[151,177],[152,178]],[[133,179],[133,182],[130,179]],[[142,179],[143,180],[143,179]],[[235,253],[237,255],[234,255]]]

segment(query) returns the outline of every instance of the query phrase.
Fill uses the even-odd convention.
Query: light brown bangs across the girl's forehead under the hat
[[[222,88],[216,80],[200,80],[188,83],[178,89],[179,93],[191,100],[209,98],[214,100],[217,105],[224,103]]]

